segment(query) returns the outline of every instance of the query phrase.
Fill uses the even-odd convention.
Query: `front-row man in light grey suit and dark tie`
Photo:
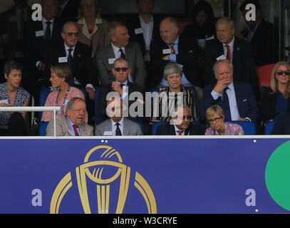
[[[108,100],[107,114],[110,116],[110,119],[95,126],[95,135],[143,135],[138,123],[134,123],[133,121],[123,117],[123,102],[120,97],[115,96]]]

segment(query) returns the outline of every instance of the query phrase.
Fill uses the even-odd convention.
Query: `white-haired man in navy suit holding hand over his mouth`
[[[211,105],[219,105],[224,110],[224,120],[256,121],[259,109],[252,88],[247,83],[233,81],[232,63],[223,59],[214,63],[214,75],[217,83],[204,87],[200,118]]]

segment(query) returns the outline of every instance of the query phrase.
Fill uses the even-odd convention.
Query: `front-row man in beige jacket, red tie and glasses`
[[[93,127],[86,124],[86,101],[72,98],[68,101],[66,115],[56,115],[56,136],[93,136]],[[46,128],[46,136],[54,136],[54,118]]]

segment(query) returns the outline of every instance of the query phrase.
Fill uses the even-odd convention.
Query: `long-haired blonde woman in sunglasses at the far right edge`
[[[261,98],[261,119],[274,120],[276,115],[290,108],[290,65],[276,63],[271,73],[270,86],[264,88]]]

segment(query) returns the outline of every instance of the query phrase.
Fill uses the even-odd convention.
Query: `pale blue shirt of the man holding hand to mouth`
[[[226,93],[229,98],[229,110],[231,112],[232,120],[238,120],[239,110],[237,106],[236,93],[234,93],[234,82],[232,81],[232,83],[230,83],[227,87],[228,89],[226,90]],[[212,98],[217,100],[219,97],[222,97],[223,93],[224,91],[221,93],[216,93],[214,90],[212,90]]]

